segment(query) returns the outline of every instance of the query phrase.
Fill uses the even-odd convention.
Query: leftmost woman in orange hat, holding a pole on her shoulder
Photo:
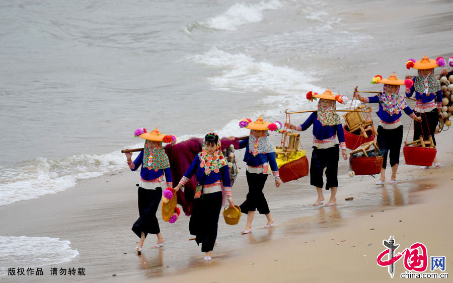
[[[135,247],[137,252],[141,252],[143,242],[147,234],[156,234],[158,242],[154,248],[164,245],[156,211],[162,198],[162,188],[172,187],[172,173],[168,157],[162,147],[164,143],[175,143],[174,135],[164,135],[158,128],[152,132],[146,132],[145,128],[138,128],[134,132],[135,137],[146,140],[144,149],[132,162],[132,153],[125,153],[127,164],[130,170],[135,171],[140,168],[140,181],[138,185],[138,214],[140,217],[132,226],[132,231],[140,238]],[[164,174],[165,179],[164,181]]]

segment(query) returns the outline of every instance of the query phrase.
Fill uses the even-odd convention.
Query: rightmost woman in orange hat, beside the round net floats
[[[434,132],[442,107],[442,90],[439,81],[434,77],[434,68],[443,66],[445,66],[445,60],[442,57],[437,57],[434,60],[429,59],[426,55],[421,60],[409,59],[406,63],[407,69],[412,67],[418,70],[418,76],[412,78],[413,86],[406,88],[407,97],[412,97],[415,92],[415,99],[417,99],[414,109],[415,115],[422,117],[421,123],[414,122],[414,140],[418,139],[420,135],[423,135],[423,138],[427,140],[428,135],[431,135],[434,145],[436,145]],[[410,76],[406,76],[406,79],[408,78]],[[437,157],[434,158],[433,163],[434,167],[440,167]],[[420,168],[426,169],[428,166]]]

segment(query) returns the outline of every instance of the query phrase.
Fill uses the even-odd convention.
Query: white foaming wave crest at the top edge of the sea
[[[198,22],[195,25],[213,30],[237,30],[239,26],[257,23],[263,20],[263,11],[276,10],[282,7],[279,0],[260,2],[258,4],[236,3],[224,13]]]

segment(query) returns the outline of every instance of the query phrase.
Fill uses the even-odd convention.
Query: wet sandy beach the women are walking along
[[[430,43],[446,38],[453,30],[453,6],[449,1],[384,1],[383,5],[372,7],[367,1],[329,4],[325,7],[329,13],[340,15],[350,31],[372,36],[367,44],[375,46],[371,53],[367,46],[357,49],[352,56],[341,56],[339,50],[325,54],[326,62],[334,63],[335,67],[323,68],[324,75],[315,82],[318,86],[330,87],[333,92],[349,97],[356,85],[359,90],[379,91],[381,86],[369,84],[374,75],[416,74],[415,70],[405,68],[410,57],[421,58],[425,53],[430,57],[453,56],[451,44]],[[392,9],[388,9],[389,5]],[[410,15],[406,13],[409,5]],[[419,21],[421,17],[423,22]],[[305,99],[305,94],[301,94],[301,99]],[[414,106],[412,101],[408,104]],[[375,105],[372,107],[377,110]],[[302,123],[307,117],[291,116],[291,122]],[[374,113],[373,119],[377,126],[379,120]],[[284,121],[284,114],[281,120]],[[402,121],[404,142],[411,121],[405,115]],[[411,135],[412,131],[409,139]],[[272,134],[275,144],[279,138]],[[310,160],[311,128],[301,138]],[[189,218],[183,215],[175,224],[164,223],[158,217],[164,247],[150,248],[156,238],[149,235],[143,253],[136,255],[138,238],[131,227],[138,217],[135,184],[139,173],[130,172],[124,161],[123,170],[80,180],[77,186],[62,192],[0,206],[2,236],[70,240],[70,247],[79,252],[68,262],[42,266],[42,276],[7,275],[0,277],[0,282],[387,282],[399,280],[406,271],[404,256],[395,263],[393,279],[387,267],[376,263],[376,257],[386,249],[383,240],[391,235],[400,245],[397,252],[420,242],[426,245],[428,257],[445,256],[444,272],[450,273],[453,130],[436,135],[436,139],[442,167],[420,170],[418,166],[405,165],[401,151],[397,185],[390,184],[389,170],[384,186],[374,185],[376,179],[370,176],[350,178],[348,161],[340,160],[337,205],[332,207],[311,205],[316,200],[316,191],[310,186],[309,176],[284,183],[278,189],[269,178],[264,192],[276,219],[275,226],[263,229],[265,217],[257,214],[253,233],[241,235],[246,216],[237,226],[226,225],[220,216],[218,245],[210,262],[204,262],[201,248],[188,241],[192,238]],[[237,156],[242,170],[233,186],[233,198],[239,205],[247,194],[247,182],[243,150],[237,151]],[[327,199],[330,192],[324,192]],[[347,197],[353,200],[346,201]],[[426,272],[431,272],[430,266],[429,262]],[[50,275],[49,270],[54,267],[85,268],[85,275]]]

